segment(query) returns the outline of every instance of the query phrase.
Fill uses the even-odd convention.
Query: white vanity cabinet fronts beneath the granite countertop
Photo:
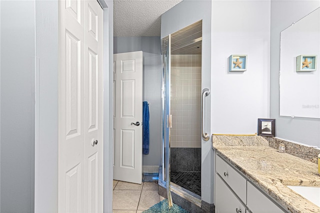
[[[219,155],[215,157],[214,197],[216,213],[286,212]]]

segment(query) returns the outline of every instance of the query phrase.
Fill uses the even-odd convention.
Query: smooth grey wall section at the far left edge
[[[33,212],[34,1],[1,4],[1,212]]]

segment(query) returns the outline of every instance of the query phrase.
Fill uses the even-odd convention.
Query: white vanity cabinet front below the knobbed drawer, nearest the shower
[[[244,205],[215,174],[215,213],[245,213]]]

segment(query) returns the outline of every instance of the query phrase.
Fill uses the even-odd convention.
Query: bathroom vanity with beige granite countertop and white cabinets
[[[260,136],[213,136],[215,212],[320,212],[287,186],[320,187],[317,165]]]

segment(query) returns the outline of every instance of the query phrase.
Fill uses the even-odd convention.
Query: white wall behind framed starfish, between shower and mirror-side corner
[[[269,117],[269,0],[212,2],[211,133],[252,134]],[[247,70],[228,57],[247,54]]]

